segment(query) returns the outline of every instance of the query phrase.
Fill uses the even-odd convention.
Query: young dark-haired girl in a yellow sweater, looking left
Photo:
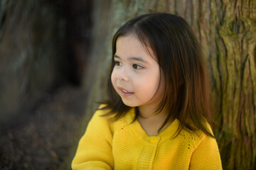
[[[186,21],[137,16],[112,41],[109,101],[81,138],[73,169],[222,169],[206,68]]]

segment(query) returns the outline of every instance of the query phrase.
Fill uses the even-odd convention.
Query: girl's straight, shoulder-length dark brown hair
[[[169,120],[176,118],[180,122],[178,133],[182,129],[194,132],[201,130],[213,137],[207,125],[212,123],[208,97],[210,90],[201,45],[188,23],[180,16],[170,13],[137,16],[115,33],[112,40],[112,64],[107,81],[109,100],[104,102],[107,105],[103,108],[110,109],[107,115],[113,115],[113,119],[118,120],[130,109],[122,103],[111,82],[117,38],[124,35],[135,35],[144,47],[150,47],[164,74],[164,96],[156,112],[169,106],[169,116],[161,128]],[[136,111],[138,114],[138,109]]]

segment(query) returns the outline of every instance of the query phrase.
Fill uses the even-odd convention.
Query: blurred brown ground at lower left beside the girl
[[[86,95],[66,85],[0,135],[0,169],[70,169]]]

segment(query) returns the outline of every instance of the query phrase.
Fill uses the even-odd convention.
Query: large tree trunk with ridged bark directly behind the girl
[[[96,3],[92,67],[85,77],[85,82],[90,81],[85,90],[91,89],[86,120],[97,106],[95,101],[106,98],[111,40],[117,28],[142,13],[175,13],[186,18],[203,46],[212,88],[212,113],[220,125],[215,137],[223,169],[256,169],[256,0]]]

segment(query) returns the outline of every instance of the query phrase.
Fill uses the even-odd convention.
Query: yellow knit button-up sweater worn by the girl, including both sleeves
[[[72,169],[222,169],[214,138],[178,128],[174,120],[158,136],[148,136],[134,108],[115,122],[97,111],[80,139]]]

